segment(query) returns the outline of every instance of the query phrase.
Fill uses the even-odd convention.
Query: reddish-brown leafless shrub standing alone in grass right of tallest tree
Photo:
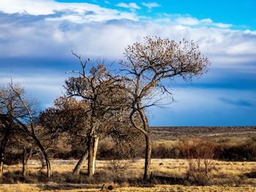
[[[202,139],[184,140],[181,153],[189,164],[188,178],[191,176],[196,184],[206,185],[214,168],[214,143]]]

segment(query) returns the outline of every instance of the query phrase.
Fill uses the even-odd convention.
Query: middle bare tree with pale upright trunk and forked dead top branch
[[[121,91],[124,80],[110,74],[101,61],[97,61],[97,66],[88,66],[89,59],[83,62],[79,55],[72,54],[79,58],[82,70],[72,71],[75,77],[69,77],[64,88],[67,97],[80,97],[89,106],[86,115],[89,117],[88,175],[91,176],[94,174],[99,136],[111,127],[109,114],[121,110],[127,94]]]

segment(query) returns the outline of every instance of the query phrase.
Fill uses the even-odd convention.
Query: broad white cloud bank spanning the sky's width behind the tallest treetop
[[[0,4],[0,9],[7,13],[23,12],[24,9],[27,12],[26,15],[5,15],[8,21],[1,20],[1,58],[67,57],[72,48],[84,55],[121,58],[127,45],[145,36],[157,35],[174,40],[194,39],[214,66],[256,61],[255,31],[233,30],[230,25],[214,23],[210,18],[198,20],[164,15],[155,20],[140,20],[135,13],[94,4],[50,0],[18,2],[4,0],[4,4]],[[37,9],[40,6],[47,8]],[[87,14],[89,11],[91,14]]]

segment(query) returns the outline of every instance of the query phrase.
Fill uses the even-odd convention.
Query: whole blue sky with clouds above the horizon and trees
[[[165,82],[175,101],[147,111],[151,126],[256,125],[256,1],[0,0],[0,84],[18,82],[42,109],[83,58],[123,59],[143,37],[196,42],[211,66]]]

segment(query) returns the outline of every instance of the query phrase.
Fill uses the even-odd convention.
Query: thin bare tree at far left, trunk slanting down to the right
[[[50,161],[45,147],[42,145],[39,137],[37,136],[37,128],[35,120],[38,115],[38,102],[35,99],[29,98],[23,88],[14,85],[12,82],[4,91],[4,101],[1,105],[0,117],[12,120],[12,126],[23,131],[27,136],[34,140],[39,150],[45,158],[45,164],[48,170],[48,177],[51,175]]]

